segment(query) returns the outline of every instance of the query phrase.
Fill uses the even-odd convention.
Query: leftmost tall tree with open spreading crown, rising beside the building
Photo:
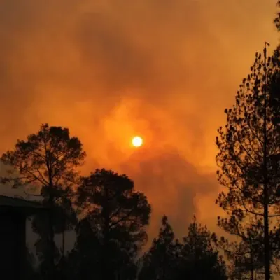
[[[20,174],[4,181],[13,180],[16,185],[33,184],[40,188],[43,202],[50,208],[48,221],[44,219],[42,223],[41,217],[34,223],[34,228],[41,235],[41,248],[45,248],[48,255],[44,264],[47,279],[53,279],[55,274],[57,249],[54,236],[55,232],[59,232],[57,226],[61,223],[57,222],[57,212],[61,213],[59,205],[66,205],[64,211],[73,217],[67,196],[77,183],[75,168],[83,164],[84,158],[85,152],[77,137],[70,137],[67,128],[50,127],[48,124],[41,125],[38,133],[29,135],[26,141],[18,140],[15,149],[3,153],[1,157],[4,164],[12,166]]]

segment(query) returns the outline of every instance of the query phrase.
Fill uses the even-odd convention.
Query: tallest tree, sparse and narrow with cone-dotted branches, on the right
[[[279,65],[267,57],[266,43],[263,55],[255,55],[251,73],[240,85],[236,104],[225,109],[227,124],[218,129],[216,137],[218,181],[228,188],[228,192],[220,193],[216,203],[229,216],[219,218],[218,225],[248,241],[252,234],[248,231],[252,224],[248,223],[253,220],[259,228],[253,238],[264,248],[266,280],[270,279],[274,256],[272,239],[276,230],[272,225],[280,215],[280,134],[273,121],[274,106],[269,102],[277,73]]]

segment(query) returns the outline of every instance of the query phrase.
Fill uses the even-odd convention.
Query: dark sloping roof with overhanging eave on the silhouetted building
[[[46,209],[46,207],[43,207],[39,202],[0,195],[0,211],[18,210],[28,216],[35,214],[40,209]]]

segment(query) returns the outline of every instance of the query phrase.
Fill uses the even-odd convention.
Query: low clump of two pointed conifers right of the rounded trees
[[[225,262],[218,255],[211,236],[194,218],[181,243],[164,216],[158,237],[141,258],[139,280],[226,280]]]

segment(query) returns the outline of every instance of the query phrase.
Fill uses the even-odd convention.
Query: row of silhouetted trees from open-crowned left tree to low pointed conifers
[[[158,238],[141,256],[151,216],[146,195],[126,174],[96,169],[80,176],[76,170],[84,160],[80,140],[48,124],[1,157],[13,167],[2,182],[14,188],[31,185],[50,209],[32,219],[39,265],[34,267],[29,252],[29,279],[227,279],[211,232],[195,218],[179,241],[164,216]],[[76,232],[76,242],[66,253],[64,233],[69,230]],[[61,247],[55,235],[62,235]]]

